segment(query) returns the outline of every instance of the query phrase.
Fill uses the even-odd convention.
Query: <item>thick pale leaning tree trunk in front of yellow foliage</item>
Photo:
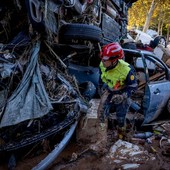
[[[143,32],[146,32],[149,28],[150,20],[151,20],[152,14],[154,12],[155,6],[156,6],[156,2],[155,2],[155,0],[152,0],[152,4],[151,4],[149,12],[147,13],[147,16],[146,16],[146,21],[145,21],[145,25],[143,27]]]

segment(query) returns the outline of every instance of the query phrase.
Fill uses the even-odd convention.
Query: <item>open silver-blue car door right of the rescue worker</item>
[[[152,73],[150,73],[149,67],[146,68],[148,75],[145,95],[143,100],[144,106],[144,124],[150,123],[151,121],[158,118],[160,113],[163,113],[165,106],[170,98],[170,71],[168,67],[158,58],[152,55],[145,54],[145,61],[153,64],[154,77],[161,75],[158,79],[152,79]],[[147,71],[148,69],[148,71]]]

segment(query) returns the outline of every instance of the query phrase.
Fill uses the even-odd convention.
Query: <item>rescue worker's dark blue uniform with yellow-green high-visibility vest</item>
[[[131,95],[137,89],[137,79],[134,69],[124,60],[118,60],[115,67],[105,68],[100,63],[101,81],[106,86],[106,92],[101,99],[99,110],[100,120],[103,122],[109,116],[111,107],[114,107],[119,127],[125,123],[126,113],[131,104]]]

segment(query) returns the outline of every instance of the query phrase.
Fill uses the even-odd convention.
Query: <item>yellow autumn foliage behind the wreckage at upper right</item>
[[[138,0],[133,4],[128,12],[128,27],[143,28],[148,11],[153,0]],[[170,24],[170,3],[169,0],[155,0],[155,9],[151,17],[149,28],[156,31],[162,29],[162,33],[167,33]]]

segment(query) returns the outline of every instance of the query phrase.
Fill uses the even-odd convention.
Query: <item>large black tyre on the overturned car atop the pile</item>
[[[87,24],[65,24],[59,29],[59,43],[76,41],[101,42],[102,31],[99,27]]]

